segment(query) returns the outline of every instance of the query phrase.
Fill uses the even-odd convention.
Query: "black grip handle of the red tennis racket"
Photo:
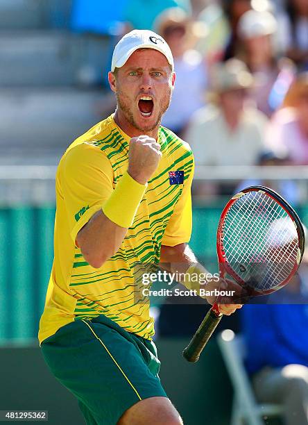
[[[200,353],[203,351],[207,341],[211,338],[212,333],[221,321],[221,317],[223,317],[223,315],[217,313],[213,308],[207,312],[207,315],[198,327],[191,342],[189,342],[188,346],[183,351],[183,357],[186,358],[188,362],[198,362]]]

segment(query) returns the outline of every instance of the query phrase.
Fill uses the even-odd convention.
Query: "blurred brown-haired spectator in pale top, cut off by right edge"
[[[308,72],[300,74],[272,119],[266,144],[293,165],[308,165]]]

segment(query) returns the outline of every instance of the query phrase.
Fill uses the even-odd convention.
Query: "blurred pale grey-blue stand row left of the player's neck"
[[[1,151],[14,151],[24,160],[44,152],[62,155],[78,135],[105,118],[104,99],[98,90],[1,90],[0,163]]]

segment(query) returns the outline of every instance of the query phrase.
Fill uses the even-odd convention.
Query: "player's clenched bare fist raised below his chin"
[[[157,169],[161,157],[160,144],[155,139],[147,135],[130,139],[128,174],[145,185]]]

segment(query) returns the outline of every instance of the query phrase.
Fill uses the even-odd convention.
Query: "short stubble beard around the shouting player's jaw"
[[[123,93],[121,90],[117,91],[117,108],[121,110],[121,113],[123,113],[126,120],[135,127],[139,131],[153,131],[156,128],[160,126],[160,123],[162,122],[162,116],[166,112],[166,110],[169,108],[170,102],[171,102],[171,94],[172,91],[169,89],[169,92],[166,94],[166,96],[163,97],[161,101],[161,107],[160,107],[160,113],[158,114],[157,120],[155,124],[151,124],[151,126],[143,126],[140,127],[137,122],[135,122],[134,116],[132,115],[132,111],[129,108],[130,99],[128,96],[126,96],[125,93]]]

